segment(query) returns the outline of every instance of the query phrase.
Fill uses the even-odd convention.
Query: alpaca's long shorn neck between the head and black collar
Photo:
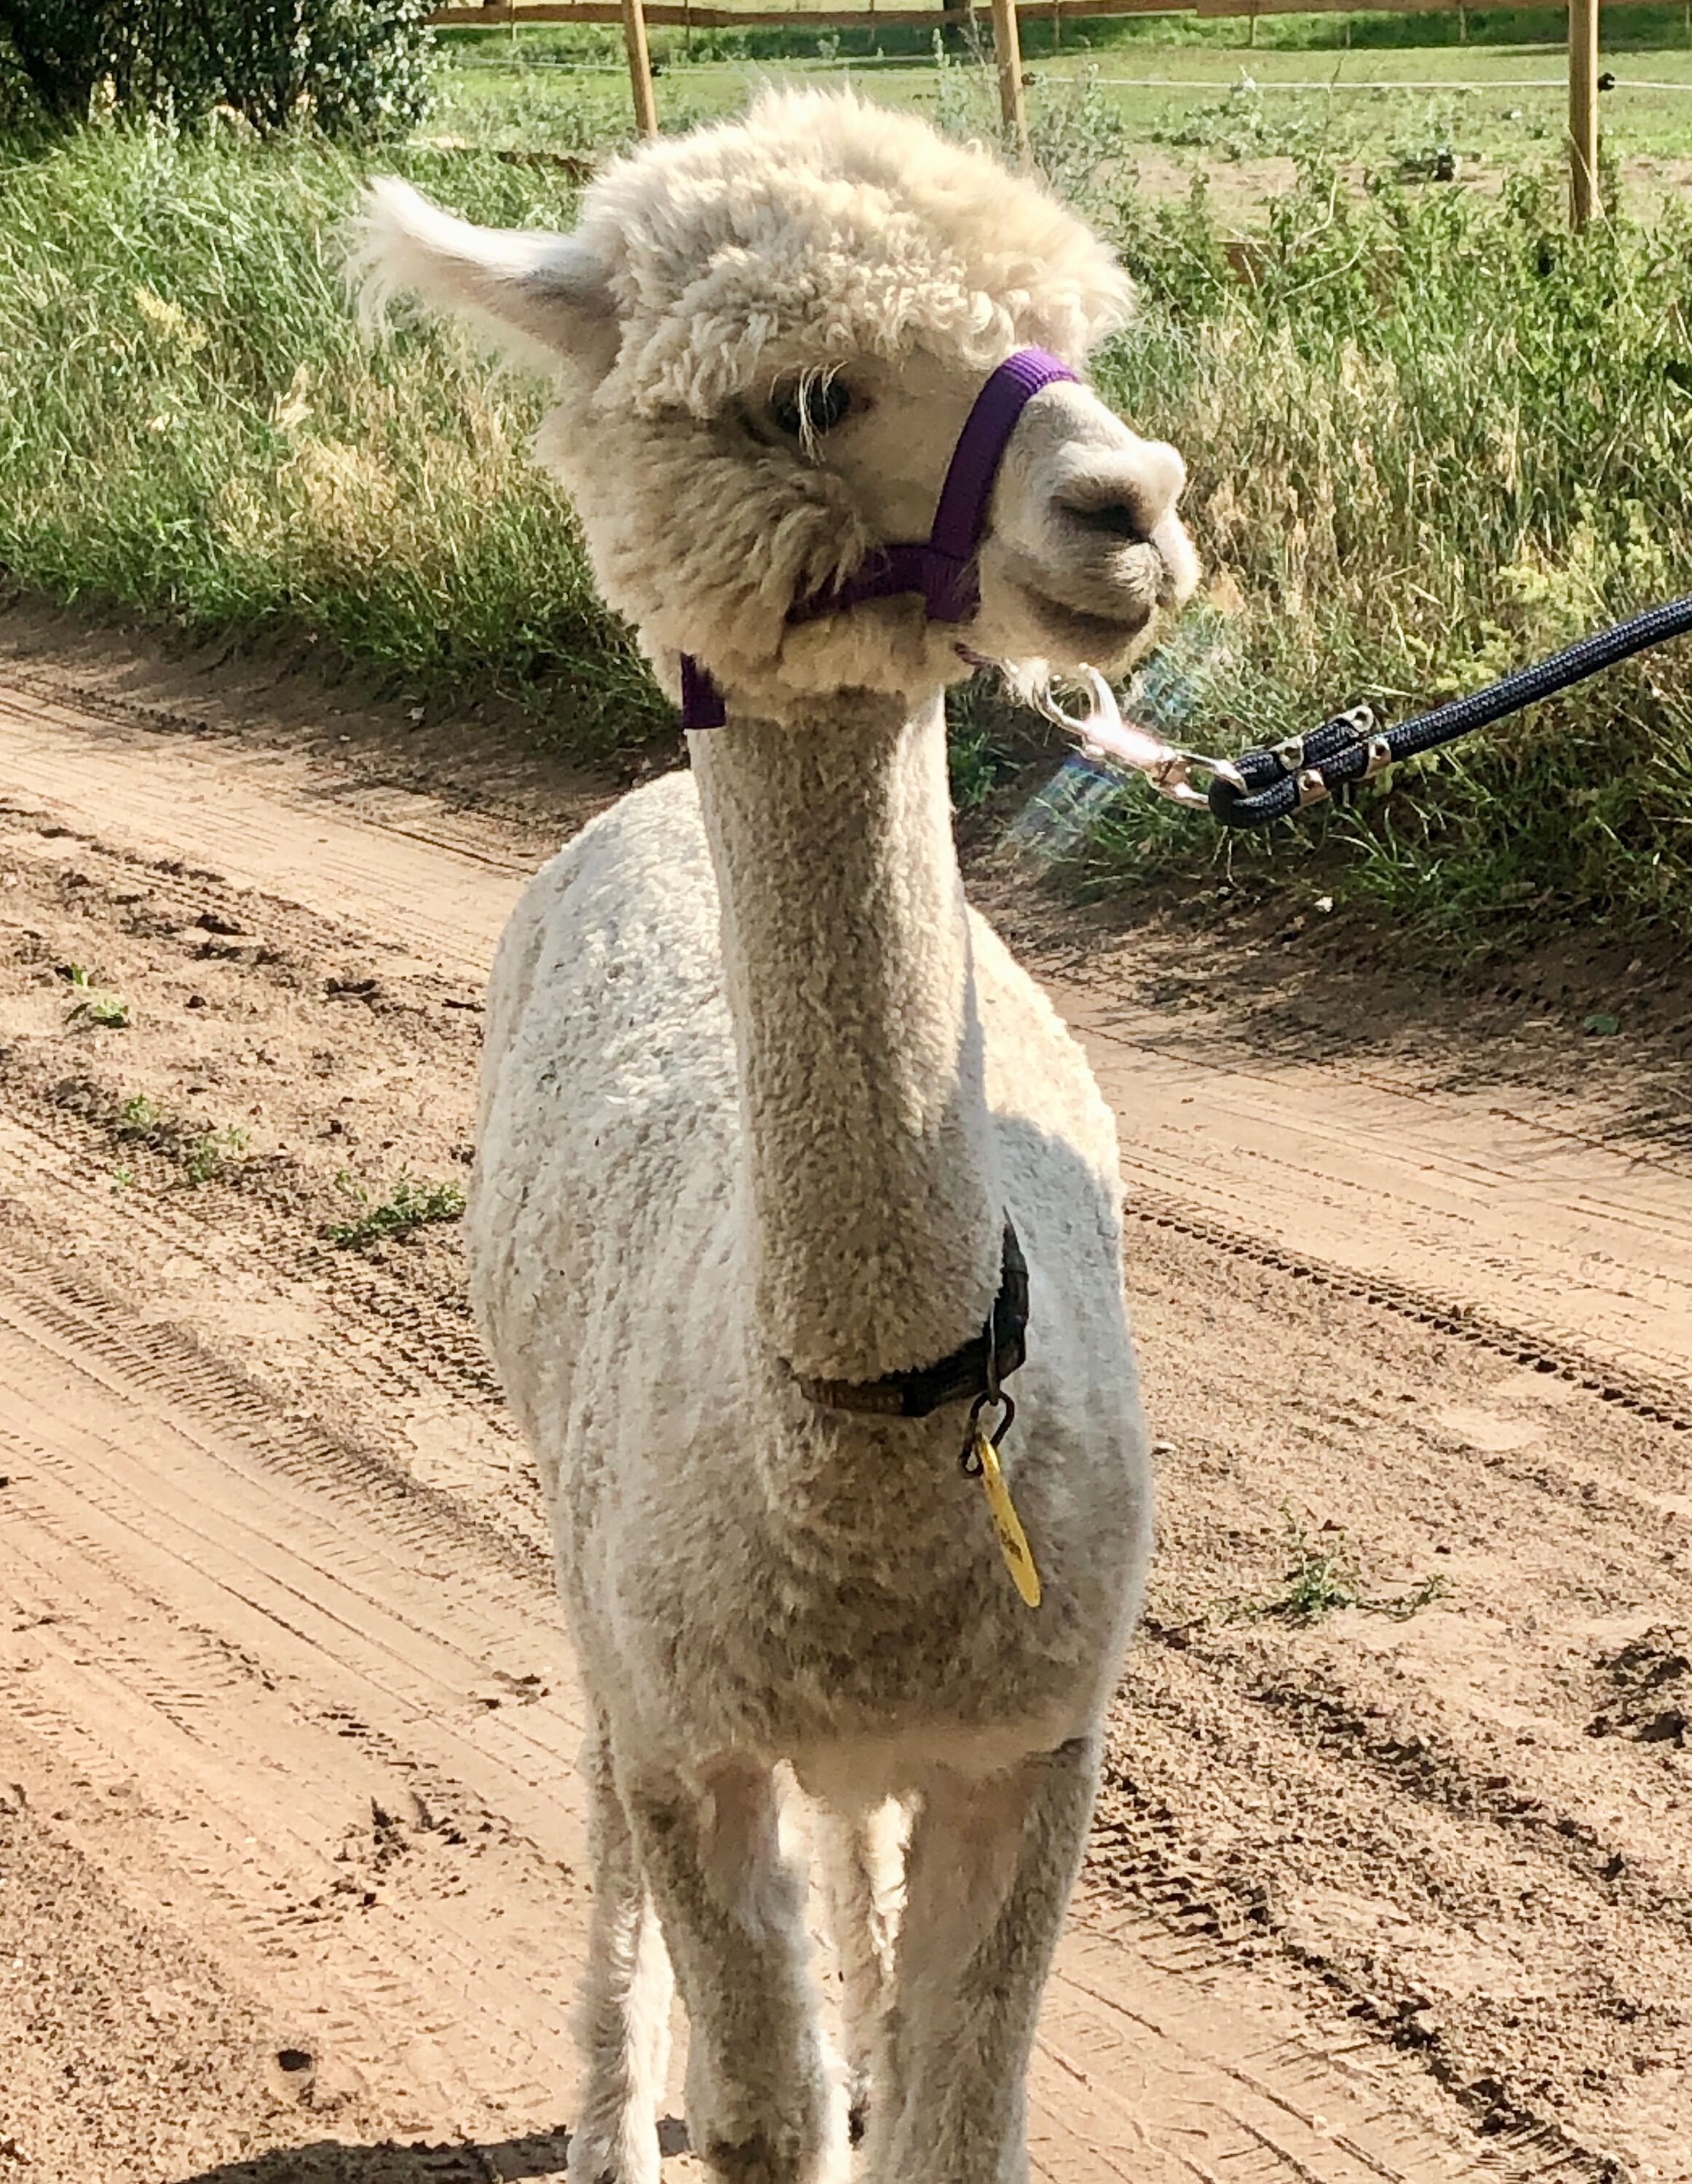
[[[980,1332],[1004,1206],[941,701],[692,738],[723,900],[758,1334],[871,1380]]]

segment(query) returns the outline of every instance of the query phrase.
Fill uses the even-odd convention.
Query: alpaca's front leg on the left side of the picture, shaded
[[[624,1800],[688,2009],[692,2149],[731,2184],[817,2184],[832,2134],[806,1887],[771,1773],[725,1762],[699,1791],[638,1782]]]

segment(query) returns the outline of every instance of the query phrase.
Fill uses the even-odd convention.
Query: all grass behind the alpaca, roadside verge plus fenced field
[[[1544,48],[1249,57],[1260,85],[1271,68],[1273,81],[1395,70],[1408,85],[1491,70],[1496,90],[1463,94],[1476,129],[1454,138],[1480,146],[1485,188],[1419,179],[1421,149],[1452,142],[1439,100],[1456,94],[1275,105],[1216,87],[1244,57],[1214,41],[1135,39],[1094,61],[1096,74],[1072,59],[1039,70],[1037,149],[1140,277],[1142,323],[1100,358],[1100,382],[1188,454],[1218,577],[1148,673],[1144,708],[1212,747],[1286,734],[1356,695],[1395,714],[1688,590],[1692,218],[1633,190],[1624,216],[1568,238],[1559,146],[1526,133],[1526,105],[1520,120],[1502,107],[1530,96],[1511,70],[1550,74]],[[1692,81],[1685,52],[1648,68]],[[666,68],[666,122],[731,105],[753,72]],[[948,129],[993,129],[976,68],[873,76],[875,96],[917,92]],[[1373,100],[1369,142],[1358,100]],[[1522,135],[1491,140],[1482,122]],[[0,153],[0,568],[55,598],[310,642],[395,686],[498,686],[583,756],[668,734],[565,505],[526,461],[541,391],[441,330],[367,343],[336,273],[369,157],[485,221],[568,223],[565,170],[498,151],[596,149],[624,131],[620,70],[565,70],[548,41],[517,70],[448,57],[421,138],[469,149],[354,157],[107,129]],[[1225,251],[1247,199],[1225,203],[1223,181],[1264,159],[1282,168],[1275,194],[1249,203],[1247,284]],[[958,723],[961,793],[1026,802],[1026,736],[982,697]],[[1380,900],[1458,952],[1548,915],[1642,928],[1692,913],[1685,657],[1408,771],[1356,810],[1234,854],[1319,871],[1325,891]],[[1207,830],[1140,797],[1048,834],[1098,889],[1216,854]]]

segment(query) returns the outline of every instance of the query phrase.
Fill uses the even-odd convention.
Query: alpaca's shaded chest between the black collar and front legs
[[[1039,1610],[1011,1586],[980,1487],[950,1437],[882,1520],[851,1492],[806,1518],[744,1492],[749,1468],[696,1472],[699,1520],[664,1553],[607,1511],[583,1542],[579,1621],[613,1636],[618,1677],[666,1743],[740,1749],[817,1773],[825,1754],[899,1754],[978,1741],[1061,1743],[1085,1723],[1137,1597],[1144,1492],[1131,1452],[1076,1498],[1024,1481],[1030,1538],[1050,1583]],[[1096,1459],[1098,1461],[1098,1459]],[[1085,1538],[1085,1553],[1081,1540]],[[592,1640],[589,1640],[592,1642]],[[827,1762],[834,1765],[834,1762]]]

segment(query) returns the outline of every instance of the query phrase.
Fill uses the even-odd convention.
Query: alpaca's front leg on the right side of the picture
[[[1081,1865],[1098,1743],[1002,1776],[937,1771],[910,1832],[889,2099],[871,2103],[873,2184],[1024,2184],[1028,2057]]]

